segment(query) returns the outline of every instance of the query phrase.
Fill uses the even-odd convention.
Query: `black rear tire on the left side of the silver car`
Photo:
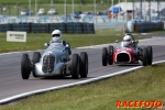
[[[40,58],[41,58],[41,53],[40,52],[34,52],[33,58],[32,58],[32,62],[33,62],[33,70],[32,70],[32,73],[33,73],[34,77],[37,77],[35,75],[35,69],[34,69],[35,67],[34,67],[34,65],[40,62]]]

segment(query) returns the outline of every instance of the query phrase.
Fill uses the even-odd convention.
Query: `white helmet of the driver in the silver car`
[[[54,30],[52,32],[52,41],[57,42],[62,40],[62,32],[59,30]]]

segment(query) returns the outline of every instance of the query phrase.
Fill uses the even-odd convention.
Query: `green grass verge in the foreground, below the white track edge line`
[[[32,96],[15,105],[1,106],[0,110],[117,110],[118,100],[161,100],[165,105],[164,72],[165,63],[146,66],[89,85]]]

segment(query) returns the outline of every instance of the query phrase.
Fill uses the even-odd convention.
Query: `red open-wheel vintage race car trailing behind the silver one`
[[[117,47],[112,45],[102,48],[102,66],[107,64],[142,64],[143,66],[152,65],[153,50],[152,46],[139,47],[139,41],[132,37],[132,47],[125,47],[124,41],[116,41]]]

